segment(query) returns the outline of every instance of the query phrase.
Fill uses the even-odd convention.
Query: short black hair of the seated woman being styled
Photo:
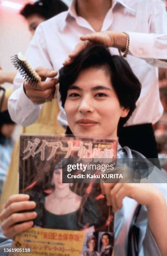
[[[65,105],[68,88],[76,81],[83,69],[90,67],[104,69],[110,77],[120,105],[129,108],[127,117],[119,120],[119,127],[123,126],[136,108],[141,84],[128,62],[123,57],[111,55],[109,49],[103,45],[94,44],[86,47],[73,59],[71,64],[59,70],[59,92],[62,106]]]

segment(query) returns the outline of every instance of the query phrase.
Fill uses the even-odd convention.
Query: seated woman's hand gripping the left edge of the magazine
[[[33,201],[29,201],[29,199],[29,195],[13,195],[3,205],[0,220],[2,221],[3,234],[7,238],[13,239],[18,233],[33,226],[33,219],[37,217],[37,213],[28,212],[28,210],[34,209],[36,204]]]

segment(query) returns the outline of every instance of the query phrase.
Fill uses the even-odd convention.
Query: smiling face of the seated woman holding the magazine
[[[120,106],[109,75],[93,67],[69,87],[64,108],[74,135],[110,138],[117,136],[119,118],[129,112]]]

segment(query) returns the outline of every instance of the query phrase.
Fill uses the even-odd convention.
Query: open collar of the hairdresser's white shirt
[[[116,5],[117,3],[123,5],[127,10],[129,10],[129,12],[131,12],[132,14],[136,15],[136,10],[133,8],[133,2],[134,0],[113,0],[113,4],[112,6]],[[66,15],[64,16],[64,21],[69,17],[73,17],[76,18],[78,15],[76,13],[76,0],[73,0],[68,11],[66,12]],[[112,7],[111,7],[112,8]]]

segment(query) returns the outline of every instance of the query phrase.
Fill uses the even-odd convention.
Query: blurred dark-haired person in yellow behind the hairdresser
[[[68,10],[68,7],[61,0],[40,0],[33,4],[26,4],[20,11],[20,14],[25,17],[26,21],[28,22],[29,29],[33,34],[36,27],[41,22],[66,10]],[[7,100],[5,100],[5,102],[8,101],[8,97],[6,97]],[[46,102],[43,105],[38,120],[28,127],[23,127],[22,133],[64,133],[64,129],[59,125],[57,120],[59,111],[60,109],[57,99],[53,99],[51,102]],[[9,195],[16,193],[18,189],[18,184],[15,182],[15,178],[18,175],[18,154],[19,141],[15,143],[13,148],[12,159],[8,170],[10,177],[7,176],[7,182],[4,185],[4,191],[0,202],[0,209],[3,205],[3,202],[7,200]],[[17,159],[17,161],[15,159]],[[8,186],[8,179],[12,180],[10,186]]]

